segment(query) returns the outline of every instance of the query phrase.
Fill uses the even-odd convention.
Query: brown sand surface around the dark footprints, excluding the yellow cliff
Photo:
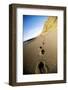
[[[48,72],[56,72],[56,32],[47,32],[24,45],[24,72],[35,73],[37,64],[45,63]],[[40,48],[42,47],[42,48]],[[41,51],[44,50],[44,54]]]

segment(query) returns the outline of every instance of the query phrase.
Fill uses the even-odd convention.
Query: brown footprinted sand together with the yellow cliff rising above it
[[[56,18],[49,17],[47,23],[44,24],[42,33],[38,37],[24,42],[23,74],[57,73]]]

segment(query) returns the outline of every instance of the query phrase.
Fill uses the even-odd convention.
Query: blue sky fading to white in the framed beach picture
[[[43,30],[47,16],[23,15],[24,41],[37,37]]]

